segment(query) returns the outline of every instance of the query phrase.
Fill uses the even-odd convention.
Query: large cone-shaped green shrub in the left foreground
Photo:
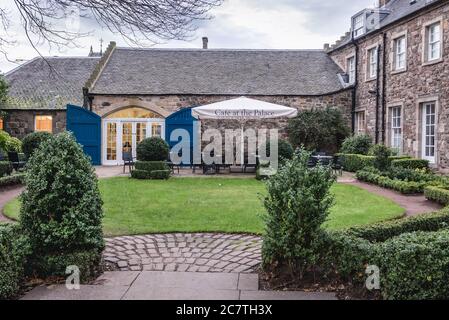
[[[20,221],[35,257],[104,247],[97,177],[71,133],[41,144],[28,161],[25,181]]]

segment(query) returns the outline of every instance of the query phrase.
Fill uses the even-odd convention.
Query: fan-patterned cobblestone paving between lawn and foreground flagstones
[[[104,260],[120,271],[251,273],[261,263],[260,237],[176,233],[106,239]]]

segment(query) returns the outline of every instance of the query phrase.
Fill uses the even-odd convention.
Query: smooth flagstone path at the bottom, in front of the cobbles
[[[106,272],[93,285],[40,286],[23,300],[336,300],[334,293],[259,291],[257,274]]]

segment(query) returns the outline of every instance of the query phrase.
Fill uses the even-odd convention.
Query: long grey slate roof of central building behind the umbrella
[[[116,48],[93,94],[323,95],[344,89],[321,50]]]

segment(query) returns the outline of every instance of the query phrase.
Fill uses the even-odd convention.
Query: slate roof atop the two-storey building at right
[[[382,29],[387,27],[390,24],[397,22],[398,20],[405,18],[425,7],[434,5],[437,2],[443,2],[447,0],[416,0],[413,4],[411,4],[410,0],[391,0],[387,5],[382,7],[381,9],[388,10],[389,14],[380,22],[379,28]],[[350,19],[349,19],[350,20]],[[377,30],[372,30],[365,35],[369,35],[377,32]],[[363,38],[363,37],[362,37]],[[337,50],[339,48],[344,47],[349,44],[352,40],[352,35],[349,33],[349,36],[345,37],[341,40],[338,45],[334,45],[331,48],[332,50]]]

